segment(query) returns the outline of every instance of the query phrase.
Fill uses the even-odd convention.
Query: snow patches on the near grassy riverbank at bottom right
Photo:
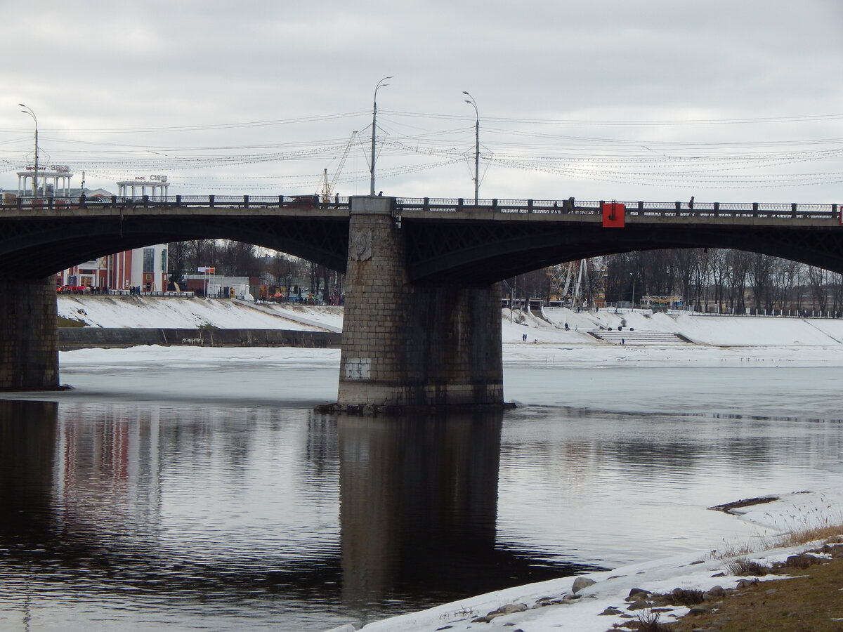
[[[793,493],[778,500],[733,510],[740,517],[760,527],[784,533],[794,528],[826,526],[828,519],[840,521],[840,514],[830,515],[830,508],[843,506],[843,490]],[[837,511],[840,511],[839,509]],[[838,522],[839,523],[839,522]],[[745,543],[737,543],[745,544]],[[800,554],[811,548],[810,544],[798,547],[768,549],[755,554],[743,554],[744,560],[757,560],[761,565],[784,562],[790,555]],[[384,619],[364,625],[364,632],[433,632],[448,629],[459,632],[468,629],[512,630],[530,632],[605,632],[613,624],[624,624],[637,611],[627,601],[633,589],[653,593],[669,593],[674,588],[710,591],[715,586],[734,588],[743,579],[730,574],[729,561],[734,558],[698,551],[692,554],[657,560],[642,564],[626,565],[604,572],[575,577],[562,577],[528,586],[490,592],[459,602],[446,603],[419,613]],[[798,571],[796,571],[798,573]],[[753,578],[755,579],[755,578]],[[781,579],[765,576],[760,581]],[[585,580],[585,581],[583,581]],[[574,582],[577,582],[575,586]],[[584,586],[582,588],[578,586]],[[489,619],[489,614],[511,611]],[[684,606],[664,608],[660,613],[663,622],[687,614]],[[476,619],[486,619],[478,621]],[[478,627],[480,626],[480,627]],[[336,628],[336,632],[352,632],[352,625]]]

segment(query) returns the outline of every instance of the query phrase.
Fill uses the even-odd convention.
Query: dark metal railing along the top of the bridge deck
[[[8,194],[7,194],[8,195]],[[615,202],[615,201],[613,201]],[[395,198],[395,212],[537,214],[600,216],[605,201],[594,200],[473,200],[464,198]],[[618,202],[626,207],[626,217],[761,217],[840,220],[837,204],[797,204],[759,202]],[[11,210],[56,210],[94,208],[209,208],[209,209],[312,209],[345,210],[351,208],[348,197],[336,195],[323,200],[319,195],[142,195],[140,197],[32,198],[4,196],[0,212]]]

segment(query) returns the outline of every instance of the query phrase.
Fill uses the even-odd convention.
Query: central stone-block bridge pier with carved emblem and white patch
[[[501,287],[418,284],[395,198],[352,197],[340,410],[502,407]]]

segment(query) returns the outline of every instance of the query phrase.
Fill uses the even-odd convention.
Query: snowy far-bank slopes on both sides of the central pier
[[[343,312],[341,307],[333,306],[256,305],[226,299],[59,296],[58,313],[86,327],[341,331]],[[525,334],[527,343],[545,351],[559,345],[617,347],[621,346],[621,338],[627,354],[641,348],[672,347],[679,351],[705,345],[812,347],[817,351],[843,347],[843,320],[668,316],[641,310],[575,313],[565,308],[546,309],[544,318],[540,318],[533,313],[503,309],[502,341],[524,343]],[[661,337],[654,336],[657,334]],[[681,337],[670,340],[670,335]],[[524,347],[518,353],[529,355]]]

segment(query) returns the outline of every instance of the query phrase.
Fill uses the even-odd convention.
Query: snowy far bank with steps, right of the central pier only
[[[545,309],[543,317],[504,309],[502,316],[507,363],[843,366],[843,319],[671,316],[602,309],[575,313],[565,308]]]

